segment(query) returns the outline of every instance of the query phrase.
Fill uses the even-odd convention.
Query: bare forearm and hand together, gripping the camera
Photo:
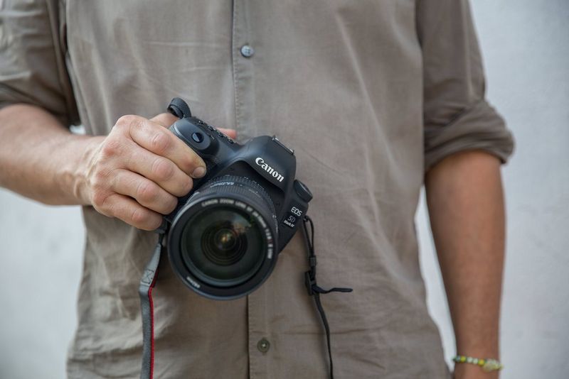
[[[98,212],[153,230],[206,165],[168,127],[171,114],[122,116],[111,133],[78,136],[38,106],[0,109],[0,187],[53,205]],[[220,129],[231,138],[235,131]]]

